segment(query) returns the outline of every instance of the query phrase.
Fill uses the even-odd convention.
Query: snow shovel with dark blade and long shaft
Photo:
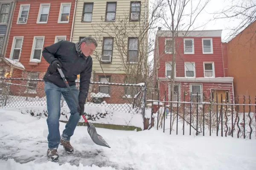
[[[80,108],[79,103],[76,101],[76,98],[75,98],[74,94],[72,93],[72,91],[71,91],[71,89],[70,89],[70,86],[67,84],[67,80],[65,79],[65,76],[64,76],[62,70],[61,70],[60,68],[58,68],[58,71],[59,71],[59,73],[61,74],[61,78],[62,78],[63,81],[65,82],[65,84],[66,84],[68,90],[70,91],[70,93],[71,93],[73,99],[75,100],[76,106],[77,106],[78,108]],[[83,116],[83,118],[84,118],[84,121],[85,121],[86,124],[87,124],[87,131],[88,131],[88,133],[89,133],[91,139],[93,140],[93,142],[96,143],[96,144],[98,144],[98,145],[100,145],[100,146],[105,146],[105,147],[111,148],[111,147],[107,144],[107,142],[102,138],[102,136],[100,136],[100,135],[96,132],[96,128],[93,126],[93,124],[92,124],[92,123],[89,123],[84,115],[82,115],[82,116]]]

